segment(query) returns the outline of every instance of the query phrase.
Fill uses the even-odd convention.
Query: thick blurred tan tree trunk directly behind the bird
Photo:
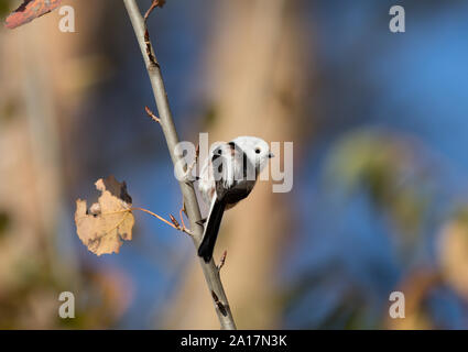
[[[295,148],[311,133],[304,129],[306,121],[314,123],[314,114],[306,109],[314,80],[304,75],[313,54],[306,54],[303,37],[308,41],[314,34],[301,30],[302,7],[292,0],[215,2],[209,13],[210,30],[216,35],[204,45],[199,61],[204,79],[209,81],[205,101],[216,102],[210,140],[258,135],[265,141],[294,141]],[[274,154],[282,163],[283,151]],[[303,163],[297,153],[296,163]],[[222,279],[229,302],[236,308],[236,323],[242,329],[281,326],[284,307],[276,299],[276,276],[284,262],[284,246],[291,241],[294,211],[291,194],[275,194],[271,187],[258,184],[248,200],[229,211],[224,233],[235,235],[220,235],[217,242],[216,257],[227,245],[230,253],[238,253],[229,256],[230,267],[222,272]],[[211,308],[208,299],[200,299],[191,315],[185,314],[189,298],[205,294],[197,270],[186,268],[184,283],[171,301],[168,321],[175,329],[217,324],[214,317],[203,314]]]

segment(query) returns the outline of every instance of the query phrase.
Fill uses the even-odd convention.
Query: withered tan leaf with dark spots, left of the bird
[[[101,195],[89,210],[86,200],[76,201],[78,237],[97,255],[119,253],[122,241],[132,239],[132,199],[127,193],[126,183],[119,183],[113,176],[98,179],[96,188]]]

